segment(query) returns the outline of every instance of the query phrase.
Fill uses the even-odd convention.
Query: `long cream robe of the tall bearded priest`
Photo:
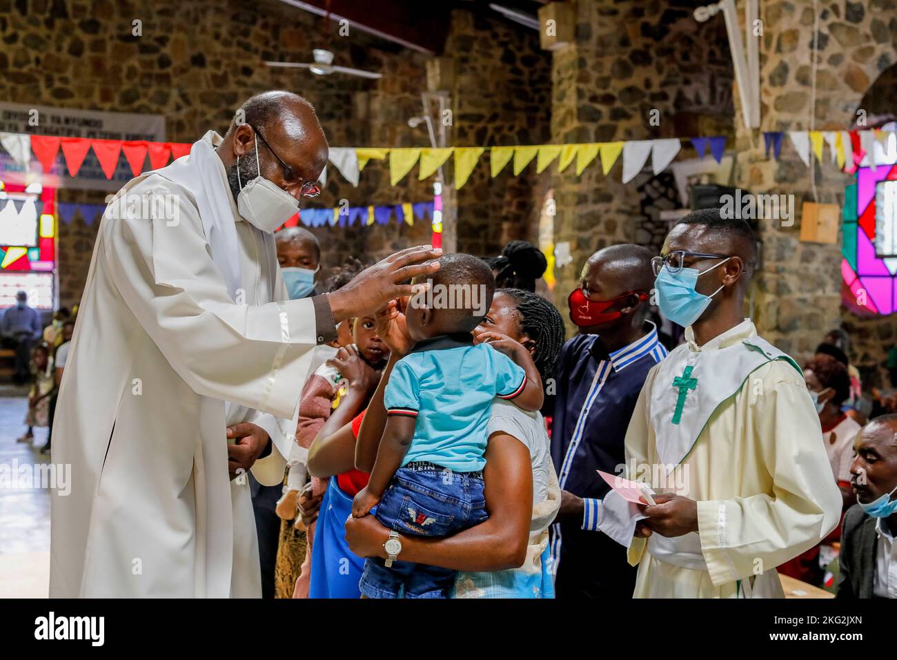
[[[261,595],[225,428],[265,428],[274,448],[253,472],[280,483],[332,317],[320,299],[287,299],[274,237],[237,212],[220,139],[130,181],[118,198],[135,204],[116,213],[113,200],[100,224],[53,434],[73,483],[52,497],[51,596]]]

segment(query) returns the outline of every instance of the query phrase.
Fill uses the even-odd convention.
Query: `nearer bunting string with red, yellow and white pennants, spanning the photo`
[[[763,133],[766,157],[779,160],[783,137],[788,135],[791,145],[806,166],[810,165],[810,154],[823,163],[827,146],[832,163],[844,172],[855,172],[858,164],[875,142],[882,145],[893,131],[877,128],[867,130],[839,131],[767,131]],[[618,160],[623,162],[623,183],[631,181],[651,158],[651,171],[655,175],[673,162],[683,143],[689,142],[699,158],[710,155],[718,163],[726,151],[725,136],[701,136],[684,138],[664,138],[656,140],[628,140],[615,142],[581,143],[570,145],[518,145],[518,146],[449,146],[444,148],[424,147],[331,147],[330,163],[343,175],[344,179],[357,186],[361,172],[370,161],[387,161],[389,181],[396,185],[405,179],[415,164],[418,165],[418,179],[430,178],[439,168],[455,158],[455,187],[461,189],[470,178],[481,157],[489,152],[490,174],[492,178],[503,172],[509,163],[511,171],[518,175],[536,160],[536,172],[543,172],[557,161],[559,172],[564,172],[575,162],[575,172],[579,176],[596,160],[601,163],[602,172],[609,174]],[[71,176],[76,176],[88,151],[100,162],[100,167],[111,179],[118,167],[122,154],[135,176],[150,169],[158,169],[168,164],[170,157],[179,158],[189,154],[191,145],[177,142],[150,142],[146,140],[99,140],[85,137],[26,136],[23,134],[0,133],[0,145],[12,155],[16,163],[27,166],[32,154],[49,172],[62,152],[65,166]],[[382,212],[381,212],[382,213]],[[357,214],[355,216],[357,219]],[[377,222],[375,216],[374,222]]]

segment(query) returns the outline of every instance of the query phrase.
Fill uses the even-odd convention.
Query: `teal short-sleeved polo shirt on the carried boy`
[[[471,335],[417,342],[389,375],[388,415],[416,418],[402,465],[426,461],[456,472],[483,470],[492,400],[523,392],[527,374],[489,344]]]

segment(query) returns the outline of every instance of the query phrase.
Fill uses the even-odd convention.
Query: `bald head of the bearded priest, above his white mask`
[[[260,175],[298,200],[317,194],[328,149],[311,103],[293,92],[273,91],[243,103],[218,155],[235,199],[248,181]]]

